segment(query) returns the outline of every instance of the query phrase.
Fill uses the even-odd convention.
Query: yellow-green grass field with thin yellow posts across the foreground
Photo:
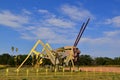
[[[120,80],[120,73],[77,71],[51,72],[48,69],[16,68],[0,69],[0,80]]]

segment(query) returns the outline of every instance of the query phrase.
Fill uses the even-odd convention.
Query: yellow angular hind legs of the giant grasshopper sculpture
[[[42,52],[37,52],[35,49],[37,48],[38,45],[41,45],[43,47]],[[31,49],[31,51],[29,52],[28,56],[25,58],[25,60],[21,63],[21,65],[17,68],[17,70],[19,70],[23,64],[26,62],[26,60],[30,57],[33,56],[33,54],[36,56],[36,59],[38,59],[38,56],[40,55],[40,57],[42,57],[43,53],[45,52],[45,54],[48,56],[48,58],[51,60],[51,62],[53,64],[55,64],[55,56],[54,53],[52,52],[52,48],[50,47],[50,45],[48,43],[44,44],[41,40],[38,40],[36,42],[36,44],[33,46],[33,48]],[[59,61],[57,60],[57,63],[59,63]],[[40,59],[37,64],[42,64],[42,59]]]

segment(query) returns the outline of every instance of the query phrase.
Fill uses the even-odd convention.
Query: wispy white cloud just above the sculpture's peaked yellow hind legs
[[[64,32],[65,30],[62,31]],[[41,39],[53,44],[71,44],[73,39],[68,38],[72,34],[71,31],[69,32],[67,35],[58,34],[54,28],[36,26],[35,29],[29,30],[29,33],[21,33],[21,38],[28,40]]]

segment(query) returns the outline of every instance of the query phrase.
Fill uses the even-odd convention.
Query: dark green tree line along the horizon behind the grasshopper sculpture
[[[0,55],[1,65],[16,66],[20,65],[27,55],[10,55],[4,53]],[[43,59],[44,65],[50,65],[51,62],[48,59]],[[32,58],[30,57],[24,65],[32,65]],[[109,58],[109,57],[96,57],[92,58],[90,55],[80,55],[78,62],[75,63],[77,66],[104,66],[104,65],[120,65],[120,57]]]

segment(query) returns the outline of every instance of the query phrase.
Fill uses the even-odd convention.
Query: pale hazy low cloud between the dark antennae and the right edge
[[[116,45],[120,44],[120,30],[114,30],[114,31],[105,31],[103,32],[104,36],[102,37],[96,37],[96,38],[82,38],[82,43],[88,43],[90,45]]]

